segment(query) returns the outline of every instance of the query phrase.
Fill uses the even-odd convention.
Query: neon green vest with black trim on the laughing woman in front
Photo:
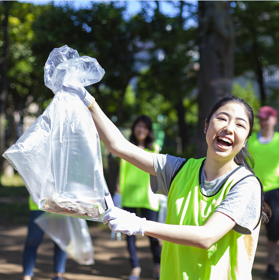
[[[241,167],[216,195],[205,197],[199,186],[203,160],[189,159],[173,179],[167,199],[167,224],[205,224],[231,187],[251,175],[250,171]],[[207,250],[164,241],[160,280],[252,280],[259,228],[251,235],[230,230]]]

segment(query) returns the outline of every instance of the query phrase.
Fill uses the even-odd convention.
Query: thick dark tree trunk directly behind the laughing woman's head
[[[206,156],[207,143],[204,126],[210,108],[218,100],[231,93],[234,29],[228,12],[229,2],[199,1],[200,71],[197,158]]]

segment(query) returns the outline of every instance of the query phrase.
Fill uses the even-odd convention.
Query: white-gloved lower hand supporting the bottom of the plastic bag
[[[135,213],[122,210],[117,207],[108,209],[104,216],[104,224],[109,223],[109,227],[114,232],[122,232],[127,235],[144,235],[142,224],[146,218],[140,218]]]

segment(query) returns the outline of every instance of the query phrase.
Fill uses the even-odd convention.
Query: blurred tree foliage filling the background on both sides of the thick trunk
[[[40,105],[39,114],[47,108],[53,92],[44,85],[44,65],[54,48],[68,45],[80,56],[97,58],[105,69],[102,81],[87,89],[108,117],[117,120],[117,126],[127,127],[139,114],[150,116],[153,122],[157,122],[158,115],[164,115],[167,143],[175,146],[176,137],[187,130],[189,141],[184,148],[185,152],[192,152],[198,121],[198,103],[192,90],[197,86],[199,49],[197,29],[185,25],[184,13],[168,17],[156,8],[150,15],[147,1],[141,1],[141,12],[130,19],[123,19],[126,8],[118,1],[92,2],[92,8],[80,10],[70,1],[63,7],[9,3],[7,106],[11,112],[24,115],[32,101]],[[172,3],[178,11],[187,10],[189,18],[195,19],[191,3]],[[1,20],[3,6],[0,5]],[[260,80],[265,68],[279,65],[278,10],[278,1],[231,2],[236,38],[235,75],[253,70]],[[3,40],[1,28],[0,46],[5,44]],[[146,54],[148,59],[139,54]],[[137,83],[133,88],[129,83],[135,77]],[[234,85],[232,89],[233,94],[237,92],[244,99],[247,95],[248,101],[254,98],[251,91],[249,84]],[[266,103],[279,108],[278,90],[269,93]],[[183,106],[179,107],[180,104]],[[255,98],[252,107],[256,111],[259,106]]]

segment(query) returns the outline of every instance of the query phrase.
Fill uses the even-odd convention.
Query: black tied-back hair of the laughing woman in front
[[[252,130],[253,130],[253,127],[254,127],[254,113],[253,113],[253,110],[250,107],[250,105],[239,97],[227,96],[227,97],[224,97],[221,100],[219,100],[217,103],[215,103],[213,105],[213,107],[211,108],[210,113],[209,113],[209,115],[206,119],[207,125],[209,125],[209,121],[210,121],[212,115],[219,108],[221,108],[222,106],[224,106],[228,103],[236,103],[236,104],[241,105],[244,108],[244,110],[247,114],[248,120],[249,120],[249,133],[248,133],[248,136],[247,136],[247,139],[246,139],[246,140],[248,140],[249,137],[252,135]],[[251,171],[252,174],[255,175],[255,173],[253,171],[254,164],[255,164],[254,159],[253,159],[252,155],[247,151],[246,146],[247,145],[242,147],[242,149],[234,156],[233,160],[237,165],[243,164],[249,171]],[[249,162],[250,162],[251,165],[247,161],[247,158],[249,159]],[[263,220],[263,222],[268,222],[269,217],[271,217],[271,209],[265,202],[263,202],[263,209],[262,209],[262,220]]]

